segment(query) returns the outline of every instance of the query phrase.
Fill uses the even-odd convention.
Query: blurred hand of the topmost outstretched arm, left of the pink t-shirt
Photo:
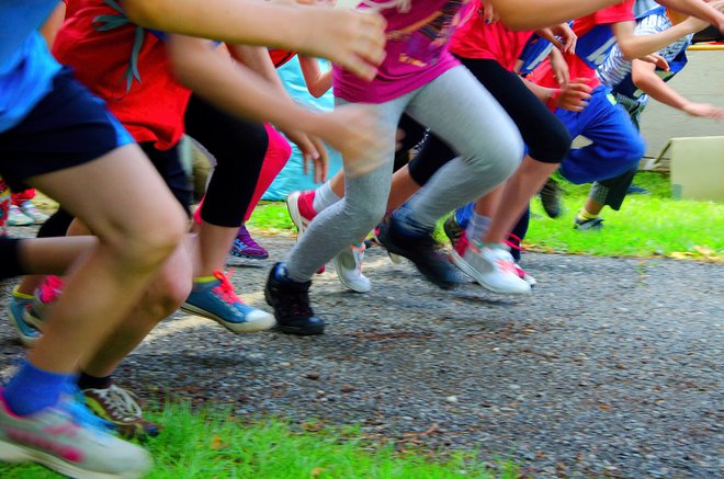
[[[328,7],[305,7],[309,27],[305,54],[328,58],[358,77],[372,81],[385,58],[382,15]]]

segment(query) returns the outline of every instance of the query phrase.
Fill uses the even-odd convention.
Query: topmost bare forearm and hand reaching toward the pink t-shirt
[[[385,56],[385,22],[377,14],[258,0],[124,0],[123,5],[140,26],[303,52],[370,80]]]

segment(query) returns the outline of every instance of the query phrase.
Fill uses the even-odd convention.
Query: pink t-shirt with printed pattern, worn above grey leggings
[[[381,10],[387,21],[387,56],[374,80],[364,81],[335,67],[335,96],[353,103],[384,103],[429,83],[457,60],[448,43],[466,0],[412,0],[408,12]],[[369,1],[367,3],[372,3]],[[388,0],[374,0],[385,4]],[[360,8],[366,8],[360,4]]]

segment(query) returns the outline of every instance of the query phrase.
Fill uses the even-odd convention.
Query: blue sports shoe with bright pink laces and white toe
[[[181,309],[213,319],[231,332],[264,331],[274,326],[274,317],[269,312],[241,301],[223,272],[214,272],[214,278],[194,283]]]

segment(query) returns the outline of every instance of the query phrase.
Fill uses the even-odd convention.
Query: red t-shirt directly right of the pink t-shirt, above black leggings
[[[450,42],[450,52],[462,58],[498,61],[513,71],[533,31],[514,32],[501,22],[487,23],[480,0],[472,1],[461,14],[461,25]]]

